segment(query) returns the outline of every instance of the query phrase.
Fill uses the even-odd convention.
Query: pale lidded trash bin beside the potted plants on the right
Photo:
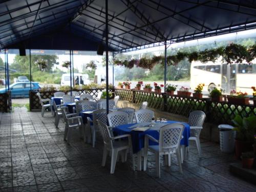
[[[233,126],[228,124],[220,124],[218,126],[220,130],[220,148],[224,153],[234,152],[234,138],[236,132],[233,131]]]

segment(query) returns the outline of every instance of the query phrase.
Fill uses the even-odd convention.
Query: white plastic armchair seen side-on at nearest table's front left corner
[[[124,161],[127,156],[127,152],[130,151],[132,154],[133,159],[133,170],[134,168],[134,156],[133,156],[133,149],[132,149],[132,140],[131,135],[119,135],[116,137],[111,136],[110,130],[106,124],[98,120],[98,126],[103,138],[104,149],[103,149],[103,157],[101,166],[105,166],[106,164],[106,157],[108,156],[108,152],[111,152],[111,168],[110,173],[114,174],[116,161],[118,158],[118,153],[121,153],[122,160]],[[127,138],[127,140],[119,140],[121,138]]]

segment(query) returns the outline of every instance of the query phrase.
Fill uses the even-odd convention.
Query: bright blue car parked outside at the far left
[[[38,82],[31,82],[32,90],[40,90]],[[29,97],[30,82],[15,82],[10,85],[12,98]],[[5,93],[5,88],[0,89],[0,93]]]

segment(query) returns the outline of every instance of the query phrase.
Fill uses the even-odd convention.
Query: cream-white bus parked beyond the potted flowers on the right
[[[231,90],[246,92],[252,95],[252,86],[256,86],[256,62],[227,65],[221,59],[202,63],[193,61],[190,68],[190,87],[195,89],[199,83],[204,83],[203,91],[214,87],[222,88],[226,94]]]

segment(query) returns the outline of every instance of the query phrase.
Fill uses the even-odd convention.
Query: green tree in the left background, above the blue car
[[[44,59],[47,61],[46,72],[52,72],[52,67],[54,65],[58,65],[57,55],[31,55],[31,71],[36,72],[39,70],[39,67],[35,64],[37,60]],[[29,73],[29,56],[19,56],[16,55],[14,57],[14,61],[12,63],[12,68],[17,70],[20,73]]]

